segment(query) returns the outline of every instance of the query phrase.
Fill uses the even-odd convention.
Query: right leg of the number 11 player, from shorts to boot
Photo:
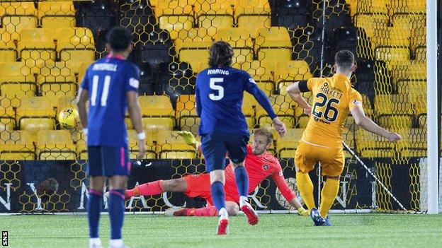
[[[127,147],[103,146],[103,165],[109,178],[108,212],[111,220],[111,248],[125,247],[121,237],[125,213],[125,189],[128,187],[130,161]]]

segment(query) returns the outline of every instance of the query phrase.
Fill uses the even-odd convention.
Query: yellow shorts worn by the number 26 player
[[[342,146],[325,147],[301,141],[296,149],[295,165],[307,173],[314,169],[317,161],[321,163],[322,175],[337,177],[344,170],[344,150]]]

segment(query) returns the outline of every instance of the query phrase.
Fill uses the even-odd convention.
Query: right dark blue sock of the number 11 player
[[[111,240],[121,239],[121,228],[125,213],[124,189],[111,189],[109,191],[108,208],[111,219]]]

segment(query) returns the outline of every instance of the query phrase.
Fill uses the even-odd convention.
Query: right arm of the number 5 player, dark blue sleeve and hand
[[[273,110],[273,107],[267,98],[267,95],[258,87],[258,85],[256,85],[256,82],[248,74],[246,74],[244,81],[246,84],[245,90],[253,95],[256,101],[259,102],[259,105],[266,110],[268,116],[272,119],[273,126],[275,127],[276,131],[278,131],[278,134],[280,136],[284,136],[285,132],[287,131],[287,129],[285,129],[285,124],[281,122],[276,115],[275,110]]]

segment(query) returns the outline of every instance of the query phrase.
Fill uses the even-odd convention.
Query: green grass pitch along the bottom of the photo
[[[107,247],[109,221],[101,216]],[[333,227],[314,227],[295,214],[262,214],[249,226],[230,218],[230,234],[215,235],[217,218],[126,215],[123,240],[129,247],[442,247],[442,215],[336,214]],[[8,247],[87,247],[85,215],[0,216]]]

